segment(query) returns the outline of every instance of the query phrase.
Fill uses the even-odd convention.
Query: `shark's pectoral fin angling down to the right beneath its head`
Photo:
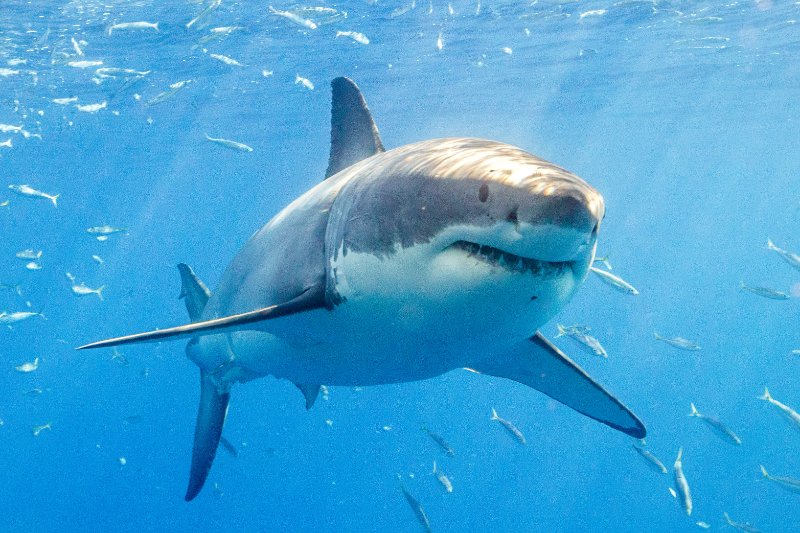
[[[512,353],[487,359],[469,370],[512,379],[637,439],[647,431],[622,402],[553,346],[541,333],[514,346]]]

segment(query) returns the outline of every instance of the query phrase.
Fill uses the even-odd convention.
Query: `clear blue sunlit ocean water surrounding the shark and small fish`
[[[0,310],[46,316],[0,331],[3,529],[414,531],[398,476],[434,531],[718,529],[724,512],[763,531],[800,529],[797,494],[759,472],[800,478],[800,435],[757,399],[767,386],[800,408],[790,353],[800,348],[800,275],[766,248],[772,238],[800,251],[800,6],[274,4],[315,21],[310,30],[267,3],[223,0],[187,29],[208,4],[0,5],[0,143],[11,140],[0,146],[0,204],[10,200],[0,283],[21,292],[1,291]],[[109,35],[136,21],[159,30]],[[225,27],[235,29],[212,31]],[[683,448],[691,517],[668,492],[672,474],[652,472],[636,441],[532,389],[463,371],[331,387],[309,412],[286,381],[237,386],[225,435],[238,457],[220,450],[205,490],[183,501],[198,398],[184,343],[123,347],[122,357],[74,348],[186,321],[175,265],[213,289],[247,238],[319,182],[329,82],[342,75],[363,90],[387,147],[497,139],[603,193],[599,255],[641,294],[592,276],[542,331],[592,328],[608,359],[555,342],[642,418],[647,448],[670,471]],[[58,193],[58,207],[10,184]],[[105,224],[127,231],[104,242],[86,232]],[[40,270],[15,257],[27,248],[43,251]],[[67,272],[105,286],[104,301],[74,295]],[[740,282],[793,298],[760,298]],[[653,331],[702,349],[676,350]],[[37,357],[35,371],[15,370]],[[689,418],[690,402],[742,445]],[[526,446],[489,420],[492,407]]]

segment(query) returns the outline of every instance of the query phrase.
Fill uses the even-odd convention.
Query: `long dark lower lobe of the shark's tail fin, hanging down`
[[[192,468],[186,501],[197,496],[208,477],[217,446],[222,436],[222,426],[228,414],[230,392],[221,392],[205,370],[200,370],[200,406],[197,409],[197,425],[194,428]]]

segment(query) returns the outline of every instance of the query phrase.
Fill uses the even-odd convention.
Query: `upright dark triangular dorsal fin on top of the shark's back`
[[[384,151],[367,102],[353,80],[336,78],[331,89],[331,157],[326,178]]]

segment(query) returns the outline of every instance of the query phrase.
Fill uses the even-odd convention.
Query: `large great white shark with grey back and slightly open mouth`
[[[384,150],[358,87],[332,82],[326,179],[258,230],[213,295],[181,264],[190,323],[87,344],[189,339],[200,406],[186,500],[234,383],[417,381],[466,368],[528,385],[636,438],[641,421],[537,329],[594,259],[603,197],[520,148],[473,138]]]

